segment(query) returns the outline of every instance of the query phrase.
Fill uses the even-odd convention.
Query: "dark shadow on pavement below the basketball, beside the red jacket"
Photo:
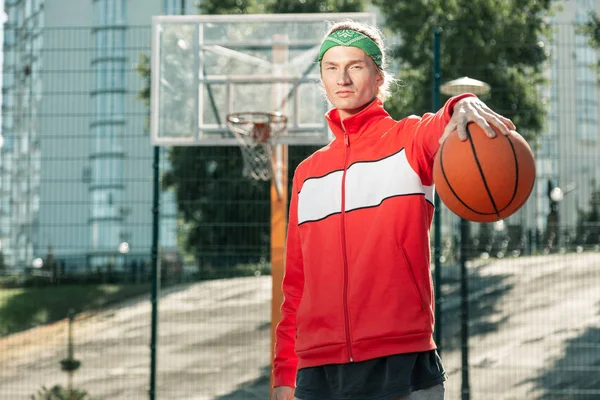
[[[460,348],[460,280],[456,271],[458,266],[444,268],[447,271],[443,273],[442,350],[449,351]],[[508,314],[502,312],[499,303],[514,287],[509,274],[482,276],[480,271],[481,267],[469,269],[469,337],[486,335],[501,328],[508,320]]]

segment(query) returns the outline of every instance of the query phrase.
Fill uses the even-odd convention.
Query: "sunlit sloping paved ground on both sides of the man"
[[[460,399],[458,285],[445,274],[442,356]],[[600,254],[505,259],[470,267],[471,399],[600,398]],[[157,399],[268,397],[270,278],[172,288],[160,300]],[[147,297],[75,325],[77,387],[96,398],[147,399]],[[0,399],[66,384],[64,322],[0,339]]]

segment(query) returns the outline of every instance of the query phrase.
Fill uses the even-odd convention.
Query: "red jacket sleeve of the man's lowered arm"
[[[288,232],[286,240],[285,273],[283,277],[281,321],[275,332],[273,386],[295,387],[298,356],[296,344],[296,311],[304,289],[302,248],[298,229],[298,182],[294,175]]]

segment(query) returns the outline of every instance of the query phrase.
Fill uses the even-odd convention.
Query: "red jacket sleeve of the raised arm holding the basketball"
[[[412,115],[405,118],[404,124],[401,124],[401,134],[408,134],[410,137],[410,145],[407,146],[408,160],[425,185],[433,183],[433,160],[440,147],[440,137],[452,118],[454,105],[465,97],[475,95],[464,93],[451,97],[437,113],[427,113],[422,117]]]

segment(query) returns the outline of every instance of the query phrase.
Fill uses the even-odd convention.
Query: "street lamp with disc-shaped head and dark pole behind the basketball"
[[[463,93],[485,95],[490,92],[490,85],[467,76],[455,79],[440,86],[440,91],[448,96],[457,96]],[[462,382],[461,399],[471,398],[469,388],[469,288],[467,279],[467,251],[469,241],[469,221],[460,219],[460,336]]]

